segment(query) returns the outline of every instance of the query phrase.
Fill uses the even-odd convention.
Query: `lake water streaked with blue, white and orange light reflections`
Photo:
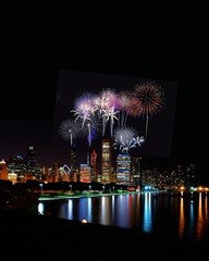
[[[209,238],[207,192],[144,192],[42,200],[38,204],[38,211],[58,219],[87,220],[88,223],[135,228],[183,240],[200,243]]]

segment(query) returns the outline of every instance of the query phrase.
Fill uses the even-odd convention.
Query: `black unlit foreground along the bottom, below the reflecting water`
[[[149,236],[133,229],[83,224],[48,216],[0,212],[1,257],[91,260],[206,258],[209,241],[180,241],[165,235]]]

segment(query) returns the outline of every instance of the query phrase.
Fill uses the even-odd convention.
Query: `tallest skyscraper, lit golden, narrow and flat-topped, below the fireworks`
[[[101,181],[102,183],[112,182],[112,148],[111,139],[101,140]]]

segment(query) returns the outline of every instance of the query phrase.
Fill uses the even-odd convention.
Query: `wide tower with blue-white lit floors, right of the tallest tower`
[[[128,153],[116,157],[116,183],[131,185],[131,156]]]

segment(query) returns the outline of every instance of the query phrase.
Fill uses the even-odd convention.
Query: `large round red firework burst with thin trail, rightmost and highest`
[[[145,133],[147,138],[149,117],[159,112],[164,105],[164,91],[156,83],[145,82],[134,87],[133,96],[138,100],[135,111],[138,115],[146,117]]]

